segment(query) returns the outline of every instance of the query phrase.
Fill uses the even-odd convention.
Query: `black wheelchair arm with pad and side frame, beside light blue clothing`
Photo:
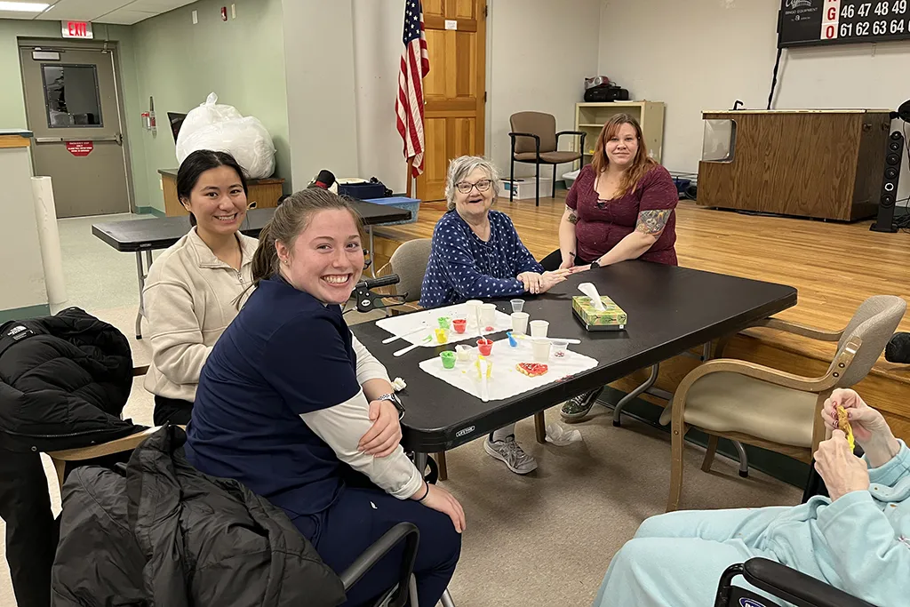
[[[797,607],[875,607],[811,575],[767,559],[749,559],[728,567],[717,586],[714,607],[779,607],[755,592],[733,586],[733,578],[737,575],[742,575],[755,588]]]

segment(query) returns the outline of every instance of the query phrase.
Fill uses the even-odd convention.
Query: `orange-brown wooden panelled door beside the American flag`
[[[483,155],[486,9],[486,0],[423,0],[430,74],[423,80],[426,152],[417,178],[421,200],[445,198],[451,158]]]

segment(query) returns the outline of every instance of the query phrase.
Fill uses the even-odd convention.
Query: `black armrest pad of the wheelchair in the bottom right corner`
[[[743,577],[755,588],[799,607],[875,607],[811,575],[768,559],[745,561]]]

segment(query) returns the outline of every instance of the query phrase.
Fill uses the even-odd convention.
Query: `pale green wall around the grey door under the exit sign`
[[[103,25],[94,27],[96,40],[110,40],[117,43],[117,59],[123,78],[121,91],[126,106],[125,134],[129,164],[133,167],[133,187],[136,193],[145,194],[148,189],[145,167],[146,152],[140,139],[141,120],[136,87],[136,62],[133,44],[133,28],[127,25]],[[25,21],[0,19],[0,128],[25,128],[25,96],[22,91],[22,70],[19,66],[19,38],[51,38],[59,40],[58,21]],[[53,41],[52,41],[53,44]]]

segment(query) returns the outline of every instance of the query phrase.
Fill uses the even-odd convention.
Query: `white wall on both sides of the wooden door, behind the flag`
[[[351,1],[360,176],[379,177],[401,192],[407,169],[395,128],[395,97],[404,0]],[[574,126],[583,78],[597,67],[601,3],[489,0],[488,5],[485,149],[504,175],[509,170],[511,114],[549,112],[558,128]],[[566,167],[560,167],[559,175]],[[518,165],[516,172],[531,175],[533,167]]]

